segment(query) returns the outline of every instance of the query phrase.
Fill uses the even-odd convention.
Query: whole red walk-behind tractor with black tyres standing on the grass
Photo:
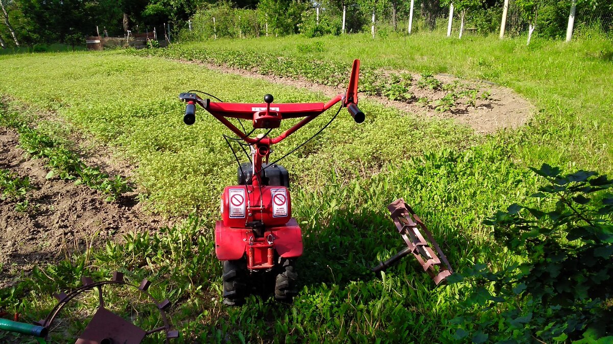
[[[357,108],[359,68],[360,61],[355,60],[346,94],[337,95],[327,103],[272,104],[273,96],[270,94],[264,95],[264,103],[224,103],[213,95],[196,90],[179,95],[180,100],[188,103],[183,118],[185,124],[194,124],[196,105],[200,105],[238,136],[237,139],[224,135],[226,142],[237,140],[251,150],[250,155],[246,154],[248,163],[240,163],[235,154],[238,163],[238,185],[224,189],[221,195],[222,220],[215,225],[215,252],[217,258],[223,261],[225,304],[240,304],[249,293],[248,286],[253,285],[248,279],[254,279],[257,274],[262,273],[272,275],[270,277],[276,274],[276,299],[291,301],[297,293],[294,264],[296,258],[302,255],[302,231],[292,218],[287,170],[277,164],[295,149],[281,159],[269,163],[270,147],[280,143],[339,102],[341,106],[337,114],[315,135],[325,129],[343,107],[347,108],[357,123],[364,122],[364,113]],[[210,95],[219,102],[201,99],[192,92]],[[239,122],[241,119],[251,120],[253,130],[246,133],[228,118],[238,119]],[[304,119],[275,138],[267,136],[272,129],[280,127],[284,119],[295,118]],[[240,124],[242,126],[242,122]],[[249,137],[256,129],[266,129],[267,132],[256,138]]]

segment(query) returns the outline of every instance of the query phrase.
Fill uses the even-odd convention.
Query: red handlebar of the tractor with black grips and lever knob
[[[270,94],[265,95],[264,100],[266,103],[223,103],[223,102],[210,102],[208,99],[201,99],[198,95],[193,93],[181,93],[179,99],[188,102],[188,108],[184,121],[186,124],[191,125],[195,120],[194,103],[197,103],[216,119],[222,122],[228,129],[232,130],[238,137],[242,138],[249,144],[259,143],[262,144],[275,144],[284,140],[287,136],[300,129],[308,122],[313,121],[319,114],[331,108],[336,103],[343,101],[343,107],[347,107],[351,116],[356,122],[364,122],[364,113],[357,108],[357,79],[359,77],[360,60],[353,62],[351,70],[351,78],[349,78],[349,87],[345,95],[337,95],[329,100],[327,103],[278,103],[272,104],[273,97]],[[281,135],[276,138],[250,138],[245,136],[240,129],[235,127],[227,118],[240,118],[251,119],[253,121],[253,127],[256,129],[274,129],[281,125],[283,119],[289,118],[301,118],[305,117],[302,121],[298,122],[290,129],[287,129]]]

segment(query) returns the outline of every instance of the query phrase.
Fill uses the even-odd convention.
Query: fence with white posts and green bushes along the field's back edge
[[[459,31],[463,35],[489,35],[501,31],[505,2],[487,1],[492,4],[481,4],[465,11],[456,9],[452,13],[451,28],[448,28],[450,8],[441,6],[439,0],[385,1],[383,6],[372,8],[365,4],[342,2],[342,6],[319,4],[319,9],[312,4],[295,2],[286,9],[272,10],[236,9],[227,2],[219,2],[197,11],[191,20],[178,24],[173,31],[179,40],[295,33],[316,37],[354,32],[373,32],[374,37],[386,37],[390,32],[414,34],[420,31],[448,32],[447,36],[457,37]],[[576,0],[542,0],[534,1],[535,5],[530,9],[525,3],[522,0],[508,1],[504,36],[528,36],[528,32],[544,39],[568,39],[569,33],[574,36],[613,36],[613,0],[578,3]],[[573,25],[569,26],[571,21]]]

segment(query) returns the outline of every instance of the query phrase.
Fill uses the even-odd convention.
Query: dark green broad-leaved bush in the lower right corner
[[[512,204],[484,222],[517,263],[501,271],[476,265],[451,279],[474,285],[470,315],[452,321],[455,338],[610,343],[613,181],[547,164],[531,170],[545,182],[532,195],[539,207]]]

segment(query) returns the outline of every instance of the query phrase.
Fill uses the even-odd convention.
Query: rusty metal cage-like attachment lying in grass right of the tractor
[[[424,271],[428,272],[428,275],[432,277],[436,285],[444,282],[453,273],[453,270],[449,265],[449,261],[447,261],[447,257],[441,251],[441,248],[438,247],[438,244],[436,244],[432,233],[425,227],[424,222],[419,219],[419,216],[415,214],[413,209],[402,198],[392,202],[392,204],[387,206],[387,209],[392,213],[392,220],[394,220],[394,224],[398,228],[400,236],[405,240],[407,247],[389,258],[389,260],[379,262],[378,266],[373,267],[373,272],[379,274],[381,271],[385,271],[388,267],[398,263],[404,256],[413,253],[419,264],[424,268]],[[432,247],[424,239],[420,229],[424,231],[436,252],[432,250]],[[438,253],[438,256],[436,253]]]

